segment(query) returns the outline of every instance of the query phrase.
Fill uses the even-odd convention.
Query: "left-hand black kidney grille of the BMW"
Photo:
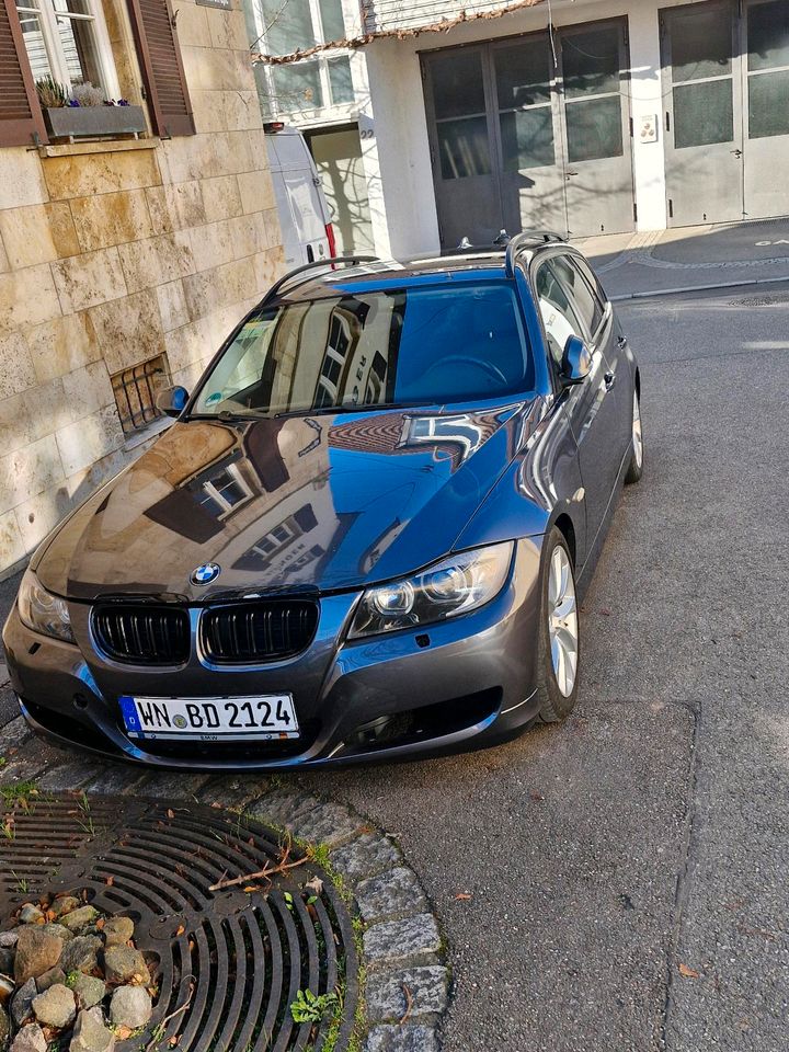
[[[179,607],[103,606],[93,611],[93,634],[115,661],[180,665],[188,661],[190,619]]]

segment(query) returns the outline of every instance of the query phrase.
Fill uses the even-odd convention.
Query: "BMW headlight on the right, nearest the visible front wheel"
[[[468,614],[504,587],[513,541],[461,551],[413,578],[368,588],[362,596],[350,639],[414,628]]]

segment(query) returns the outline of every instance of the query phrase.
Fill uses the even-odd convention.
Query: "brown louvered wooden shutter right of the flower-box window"
[[[194,135],[192,104],[169,0],[128,0],[128,5],[156,132],[163,137]]]

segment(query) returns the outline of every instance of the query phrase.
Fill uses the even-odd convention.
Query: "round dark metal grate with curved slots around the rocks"
[[[265,889],[208,890],[275,865],[270,830],[214,808],[107,797],[38,798],[13,820],[0,844],[0,929],[22,902],[62,891],[135,922],[158,995],[148,1033],[118,1049],[145,1049],[155,1034],[158,1048],[182,1052],[320,1050],[336,1022],[295,1024],[289,1006],[299,990],[338,986],[332,1047],[347,1047],[358,961],[352,916],[325,874],[306,862]],[[313,877],[319,894],[304,890]]]

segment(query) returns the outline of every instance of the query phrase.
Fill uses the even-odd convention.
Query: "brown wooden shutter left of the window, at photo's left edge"
[[[0,0],[0,146],[47,141],[15,0]]]

